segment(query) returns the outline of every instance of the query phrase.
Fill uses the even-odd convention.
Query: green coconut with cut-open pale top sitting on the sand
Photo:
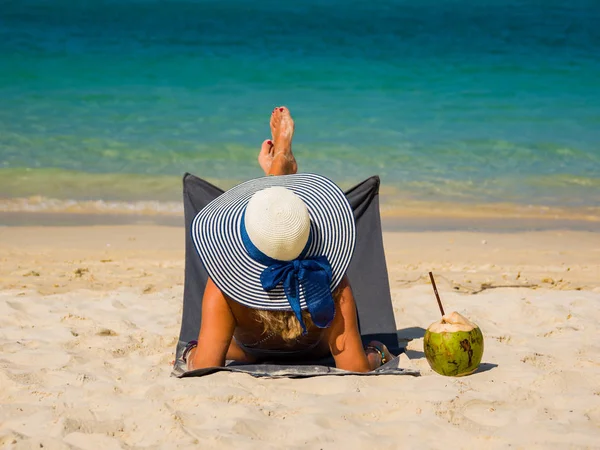
[[[424,350],[427,362],[440,375],[469,375],[481,362],[483,334],[477,325],[455,311],[427,328]]]

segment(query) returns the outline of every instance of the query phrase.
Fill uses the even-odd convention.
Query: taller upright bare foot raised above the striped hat
[[[294,120],[290,115],[290,110],[285,106],[278,106],[271,113],[271,134],[273,136],[273,147],[268,154],[272,155],[272,160],[271,166],[265,173],[267,175],[289,175],[296,173],[298,171],[298,164],[292,153]],[[263,143],[263,148],[264,146],[265,143]],[[261,149],[262,153],[263,150]],[[260,156],[259,162],[261,162]],[[261,167],[263,167],[262,162]]]

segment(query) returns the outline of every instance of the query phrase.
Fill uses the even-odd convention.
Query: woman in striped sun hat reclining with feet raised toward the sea
[[[192,235],[209,274],[188,370],[226,360],[301,360],[333,355],[336,367],[373,370],[393,355],[363,349],[345,276],[355,242],[352,210],[330,180],[297,174],[294,122],[271,114],[272,140],[258,157],[265,177],[232,188],[195,218]]]

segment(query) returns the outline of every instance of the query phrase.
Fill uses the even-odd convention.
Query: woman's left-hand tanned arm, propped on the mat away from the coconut
[[[225,356],[233,332],[235,317],[227,299],[209,278],[202,298],[202,323],[198,347],[188,356],[188,370],[225,365]]]

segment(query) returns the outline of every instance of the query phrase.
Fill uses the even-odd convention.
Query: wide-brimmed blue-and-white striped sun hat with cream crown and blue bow
[[[195,217],[192,238],[211,279],[247,307],[308,309],[328,326],[331,292],[356,241],[352,208],[341,189],[315,174],[258,178],[223,193]]]

